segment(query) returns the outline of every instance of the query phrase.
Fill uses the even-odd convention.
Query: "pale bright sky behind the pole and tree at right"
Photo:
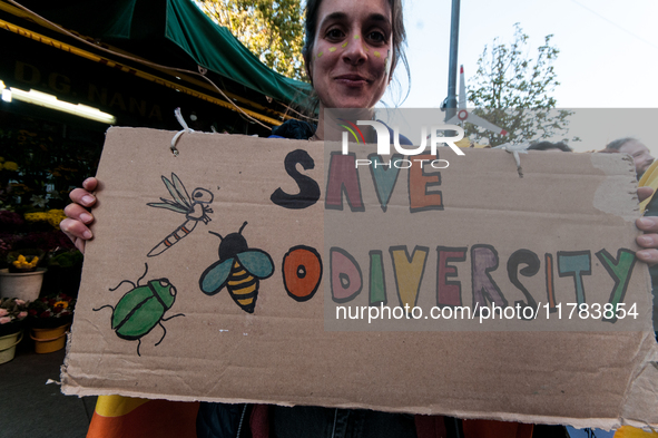
[[[435,108],[448,96],[452,1],[404,1],[411,91],[401,106]],[[458,64],[464,65],[467,79],[472,77],[484,45],[497,37],[509,45],[519,22],[530,37],[531,57],[544,37],[553,35],[552,45],[560,49],[554,68],[561,85],[553,94],[559,107],[658,108],[656,17],[657,0],[462,0]],[[403,69],[396,75],[405,91]],[[390,95],[384,99],[396,100]],[[574,144],[577,148],[599,148],[599,143],[635,135],[658,156],[658,142],[641,132],[648,123],[644,120],[656,120],[657,111],[588,111],[589,126],[592,114],[601,117],[601,127],[587,145]],[[619,118],[623,120],[615,123]]]

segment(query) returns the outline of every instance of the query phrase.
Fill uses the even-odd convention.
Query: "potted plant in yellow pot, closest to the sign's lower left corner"
[[[76,300],[65,293],[43,296],[28,306],[31,338],[38,353],[61,350],[67,330],[73,320]]]

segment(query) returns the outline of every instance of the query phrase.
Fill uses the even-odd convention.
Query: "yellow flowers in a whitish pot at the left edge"
[[[41,250],[12,251],[7,254],[8,269],[0,270],[0,294],[33,301],[43,283],[45,267],[37,267],[43,260]]]

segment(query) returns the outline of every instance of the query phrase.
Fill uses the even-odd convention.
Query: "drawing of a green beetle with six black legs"
[[[121,339],[138,341],[137,356],[141,356],[139,353],[141,338],[148,334],[156,325],[160,325],[164,330],[163,337],[156,343],[157,347],[163,342],[165,335],[167,335],[167,329],[165,329],[163,322],[176,317],[185,317],[183,313],[177,313],[173,317],[163,318],[165,312],[171,309],[174,301],[176,301],[176,288],[169,283],[168,279],[150,280],[148,283],[140,285],[139,282],[148,272],[148,264],[145,263],[145,266],[144,275],[137,280],[137,284],[129,280],[124,280],[116,288],[110,289],[114,292],[124,283],[132,284],[132,289],[119,300],[116,306],[107,304],[94,309],[94,311],[105,308],[112,310],[112,330]]]

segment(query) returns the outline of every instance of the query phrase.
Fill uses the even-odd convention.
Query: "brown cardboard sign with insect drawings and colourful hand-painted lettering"
[[[65,393],[658,424],[628,157],[175,134],[107,134]]]

